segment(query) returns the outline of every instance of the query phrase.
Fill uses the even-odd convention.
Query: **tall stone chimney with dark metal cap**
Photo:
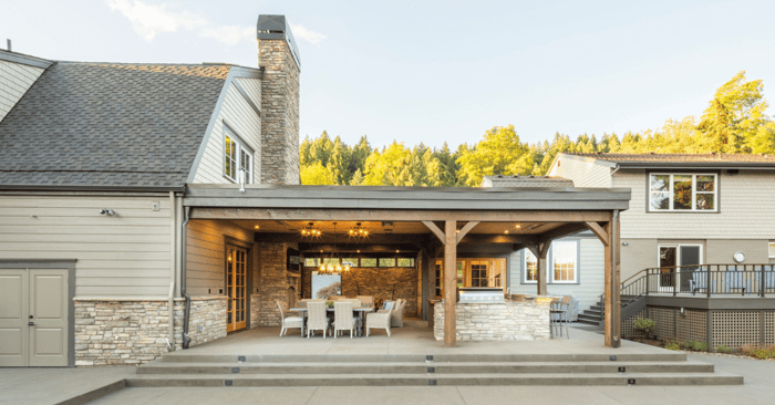
[[[285,15],[259,15],[261,183],[299,184],[299,49]]]

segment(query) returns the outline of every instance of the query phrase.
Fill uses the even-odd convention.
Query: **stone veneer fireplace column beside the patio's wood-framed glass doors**
[[[280,325],[280,310],[277,308],[277,301],[288,301],[288,289],[291,285],[296,289],[296,298],[299,298],[301,287],[299,278],[289,278],[287,274],[288,248],[296,248],[296,246],[294,243],[256,243],[258,272],[254,284],[258,292],[251,295],[251,328]]]

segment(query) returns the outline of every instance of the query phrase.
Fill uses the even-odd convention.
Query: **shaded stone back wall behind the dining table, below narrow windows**
[[[311,298],[312,271],[303,269],[303,297]],[[404,315],[417,315],[417,268],[353,268],[342,273],[342,295],[372,295],[374,300],[406,300]]]

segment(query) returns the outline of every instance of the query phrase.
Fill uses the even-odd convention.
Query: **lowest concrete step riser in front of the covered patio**
[[[550,377],[443,377],[424,376],[417,378],[285,378],[285,380],[229,380],[230,386],[427,386],[432,385],[542,385],[542,386],[582,386],[582,385],[629,385],[627,375],[601,376],[596,378],[574,376]],[[228,387],[224,380],[136,380],[128,378],[128,387]],[[641,376],[636,378],[636,385],[742,385],[741,376],[688,376],[660,377]]]

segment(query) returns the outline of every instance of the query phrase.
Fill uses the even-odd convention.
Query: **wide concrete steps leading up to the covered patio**
[[[310,354],[175,352],[137,367],[128,387],[427,385],[741,385],[685,353]]]

